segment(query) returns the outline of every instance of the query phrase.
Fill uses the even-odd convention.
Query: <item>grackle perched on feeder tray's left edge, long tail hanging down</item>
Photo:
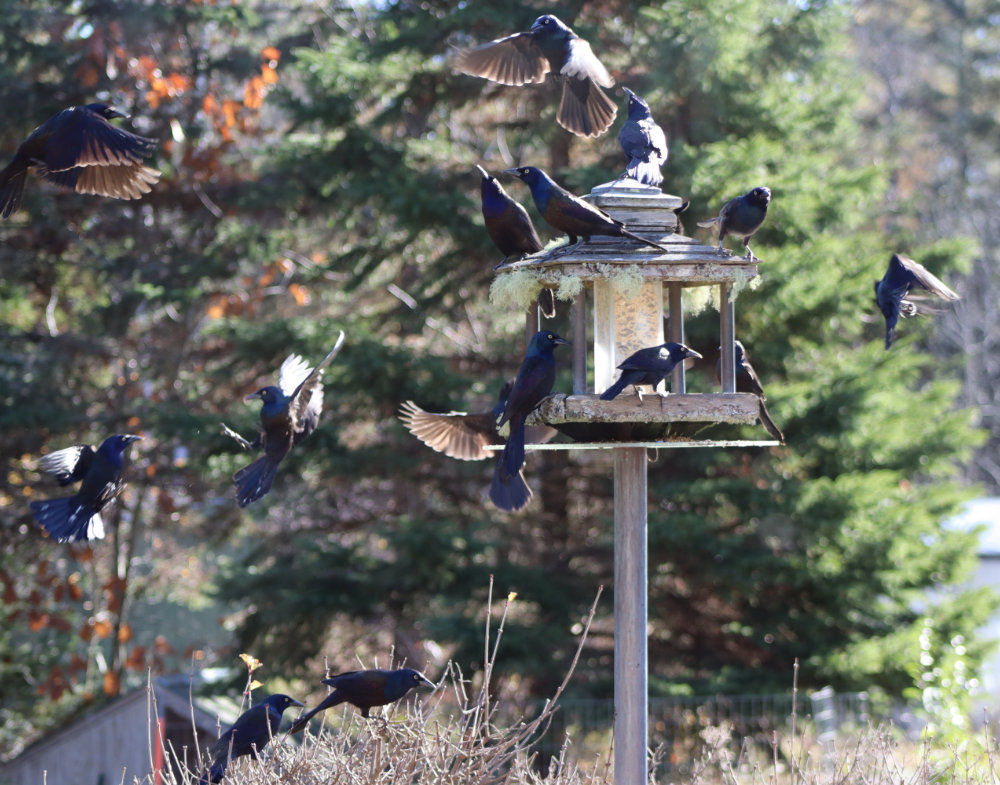
[[[490,499],[501,510],[519,510],[531,498],[531,489],[521,474],[521,466],[524,465],[524,420],[552,392],[556,380],[553,352],[559,344],[569,344],[569,341],[547,330],[535,333],[521,361],[503,415],[497,421],[497,427],[510,424],[507,442],[497,456],[490,485]]]

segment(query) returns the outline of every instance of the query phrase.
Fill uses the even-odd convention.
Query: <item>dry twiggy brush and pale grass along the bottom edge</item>
[[[598,599],[600,592],[598,592]],[[496,662],[508,598],[495,640],[489,623],[484,642],[483,683]],[[501,723],[498,707],[480,688],[449,667],[429,697],[392,707],[363,719],[350,707],[327,712],[331,728],[308,731],[301,742],[279,734],[260,761],[233,761],[228,785],[612,785],[613,750],[579,760],[568,740],[547,765],[537,745],[558,711],[590,629],[591,607],[576,656],[551,701],[533,719]],[[487,611],[489,616],[489,609]],[[793,683],[793,690],[795,690]],[[996,742],[987,727],[960,744],[907,741],[889,725],[844,733],[819,743],[811,724],[793,714],[787,733],[774,733],[769,745],[740,740],[724,725],[701,731],[699,747],[684,761],[668,760],[667,750],[650,753],[650,783],[680,785],[998,785]],[[608,734],[610,736],[610,734]],[[587,746],[587,745],[585,745]],[[589,747],[593,749],[593,747]],[[204,762],[197,754],[167,751],[173,766],[159,783],[197,785]],[[673,753],[676,755],[676,752]],[[152,760],[152,755],[151,755]],[[123,779],[124,785],[124,779]]]

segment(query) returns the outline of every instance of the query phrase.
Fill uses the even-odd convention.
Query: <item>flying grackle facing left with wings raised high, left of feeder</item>
[[[315,368],[297,354],[290,354],[278,371],[278,384],[262,387],[245,400],[260,399],[260,433],[248,442],[223,424],[223,431],[244,449],[263,449],[264,455],[233,475],[240,507],[262,498],[271,490],[278,464],[296,444],[316,430],[323,409],[323,369],[337,356],[344,343],[341,331],[336,346]]]

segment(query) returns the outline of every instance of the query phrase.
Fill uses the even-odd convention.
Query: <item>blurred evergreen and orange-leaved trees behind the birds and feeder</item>
[[[147,666],[228,664],[234,646],[302,690],[324,659],[349,668],[390,651],[475,674],[490,575],[518,592],[495,688],[549,694],[573,625],[612,583],[609,460],[530,455],[535,499],[506,515],[486,498],[489,462],[431,452],[396,412],[407,399],[489,409],[520,362],[523,316],[487,298],[498,253],[475,164],[540,165],[585,193],[624,166],[623,115],[577,139],[555,124],[553,85],[451,70],[454,47],[526,29],[539,13],[527,4],[3,5],[0,93],[24,107],[3,149],[95,97],[164,140],[164,177],[142,201],[35,178],[0,227],[0,733],[18,738],[6,748]],[[929,616],[940,640],[965,636],[970,662],[983,652],[987,594],[930,613],[921,602],[974,561],[975,537],[942,521],[970,495],[964,480],[983,479],[970,470],[980,408],[957,405],[977,403],[962,352],[925,351],[944,346],[939,322],[908,321],[882,349],[871,288],[893,250],[949,282],[973,252],[957,232],[886,231],[903,201],[874,154],[898,129],[860,89],[863,8],[546,9],[649,101],[670,140],[664,190],[692,201],[689,233],[731,196],[774,192],[737,329],[788,445],[661,450],[650,467],[661,693],[784,689],[798,657],[802,686],[901,695]],[[708,306],[687,325],[707,358],[694,391],[714,384],[717,324]],[[565,303],[550,326],[568,334]],[[256,407],[240,399],[290,352],[319,360],[339,329],[320,428],[239,511],[229,478],[249,458],[219,421],[251,433]],[[569,386],[562,360],[556,389]],[[115,431],[147,438],[114,534],[45,540],[27,504],[58,491],[38,456]],[[610,695],[610,607],[577,694]]]

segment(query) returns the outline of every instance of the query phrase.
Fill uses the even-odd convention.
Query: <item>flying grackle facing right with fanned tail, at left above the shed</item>
[[[60,485],[82,482],[72,496],[32,502],[35,520],[59,542],[103,538],[101,510],[125,487],[125,453],[132,442],[141,438],[118,433],[101,442],[96,450],[89,444],[78,444],[42,458],[39,468],[54,475]]]

